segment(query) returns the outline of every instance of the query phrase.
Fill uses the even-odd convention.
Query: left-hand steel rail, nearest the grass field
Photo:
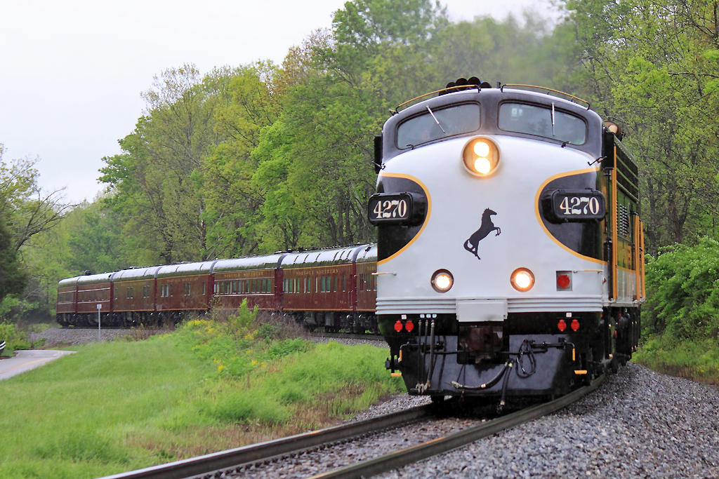
[[[396,427],[400,424],[406,424],[416,419],[427,417],[431,414],[431,411],[431,405],[417,406],[403,411],[383,414],[382,416],[372,419],[350,422],[317,431],[295,434],[294,436],[283,437],[278,440],[213,452],[203,456],[192,457],[191,459],[132,470],[127,473],[109,475],[104,479],[175,479],[209,474],[216,470],[232,468],[233,466],[248,462],[271,460],[282,455],[301,452],[311,447],[347,440],[350,437],[378,432],[389,427]]]

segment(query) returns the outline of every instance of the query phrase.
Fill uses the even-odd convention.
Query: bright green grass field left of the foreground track
[[[400,391],[383,348],[276,332],[192,321],[0,382],[0,476],[119,473],[323,427]]]

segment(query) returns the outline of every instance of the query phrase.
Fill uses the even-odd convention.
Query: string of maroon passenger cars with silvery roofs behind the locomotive
[[[188,313],[247,306],[308,328],[377,332],[377,248],[361,244],[267,256],[131,268],[58,283],[62,326],[178,323]]]

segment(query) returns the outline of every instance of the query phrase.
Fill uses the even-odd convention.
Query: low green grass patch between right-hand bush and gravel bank
[[[719,344],[713,339],[678,340],[667,332],[651,335],[632,361],[660,373],[719,384]]]

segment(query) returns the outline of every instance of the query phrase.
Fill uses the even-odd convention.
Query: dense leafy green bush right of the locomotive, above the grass
[[[675,244],[646,265],[644,333],[677,339],[719,336],[719,241]]]

